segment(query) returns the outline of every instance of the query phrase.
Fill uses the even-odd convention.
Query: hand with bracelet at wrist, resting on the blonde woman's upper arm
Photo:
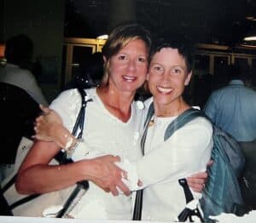
[[[61,117],[48,107],[40,106],[44,114],[36,119],[35,135],[37,140],[53,141],[61,148],[67,148],[67,142],[71,145],[76,142],[75,137],[63,126]]]

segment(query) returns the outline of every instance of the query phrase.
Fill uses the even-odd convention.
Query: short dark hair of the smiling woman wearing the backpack
[[[195,57],[194,43],[183,38],[177,39],[177,38],[157,37],[154,39],[151,45],[148,64],[150,64],[154,54],[156,54],[163,48],[177,49],[178,53],[181,54],[185,60],[188,72],[192,71],[192,68],[194,66],[194,57]]]

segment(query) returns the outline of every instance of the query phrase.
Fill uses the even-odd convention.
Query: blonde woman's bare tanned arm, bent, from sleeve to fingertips
[[[53,142],[38,141],[21,164],[16,180],[17,191],[24,194],[53,192],[74,185],[80,180],[91,180],[105,192],[118,195],[117,187],[125,194],[130,191],[122,182],[122,174],[111,155],[82,160],[76,163],[50,166],[48,163],[60,150]]]

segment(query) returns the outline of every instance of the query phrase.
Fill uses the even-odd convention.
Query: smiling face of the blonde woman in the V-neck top
[[[121,91],[134,92],[143,85],[147,68],[146,44],[140,39],[132,40],[109,60],[108,84]]]

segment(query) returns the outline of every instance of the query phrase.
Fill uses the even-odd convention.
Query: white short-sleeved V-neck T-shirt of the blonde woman
[[[131,118],[123,123],[114,117],[102,104],[96,89],[86,89],[88,102],[84,121],[84,142],[73,153],[73,160],[94,157],[97,154],[119,155],[121,159],[136,162],[142,156],[140,149],[141,126],[144,110],[136,102],[131,105]],[[61,116],[67,129],[72,131],[81,105],[81,97],[76,89],[67,90],[50,105]],[[102,191],[90,182],[90,189],[81,199],[71,215],[84,219],[131,220],[131,196]]]

